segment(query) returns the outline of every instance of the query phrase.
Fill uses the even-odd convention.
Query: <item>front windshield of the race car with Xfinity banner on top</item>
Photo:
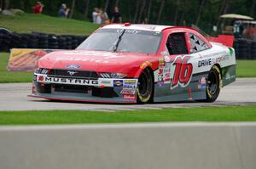
[[[161,32],[154,31],[100,29],[77,49],[156,54],[161,37]]]

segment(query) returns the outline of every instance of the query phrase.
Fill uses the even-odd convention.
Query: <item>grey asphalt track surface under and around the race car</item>
[[[28,98],[32,83],[0,84],[0,110],[148,110],[163,108],[189,108],[201,106],[256,104],[256,78],[238,78],[236,82],[221,89],[214,103],[161,103],[161,104],[87,104],[52,102]]]

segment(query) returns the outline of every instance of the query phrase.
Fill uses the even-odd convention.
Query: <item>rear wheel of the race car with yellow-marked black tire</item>
[[[207,102],[214,102],[218,98],[221,87],[221,72],[217,65],[213,65],[207,77]]]

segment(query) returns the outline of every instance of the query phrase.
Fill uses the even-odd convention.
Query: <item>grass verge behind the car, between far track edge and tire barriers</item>
[[[0,53],[0,82],[32,82],[32,72],[7,71],[8,59]],[[236,77],[256,77],[256,60],[237,60]]]

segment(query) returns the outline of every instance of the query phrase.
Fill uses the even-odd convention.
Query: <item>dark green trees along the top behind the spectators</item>
[[[32,13],[37,0],[0,0],[1,8],[20,8]],[[57,15],[61,3],[71,8],[70,18],[91,20],[93,8],[103,8],[111,16],[119,6],[125,22],[164,25],[195,24],[204,30],[220,25],[221,14],[245,14],[256,19],[256,0],[42,0],[44,14]]]

